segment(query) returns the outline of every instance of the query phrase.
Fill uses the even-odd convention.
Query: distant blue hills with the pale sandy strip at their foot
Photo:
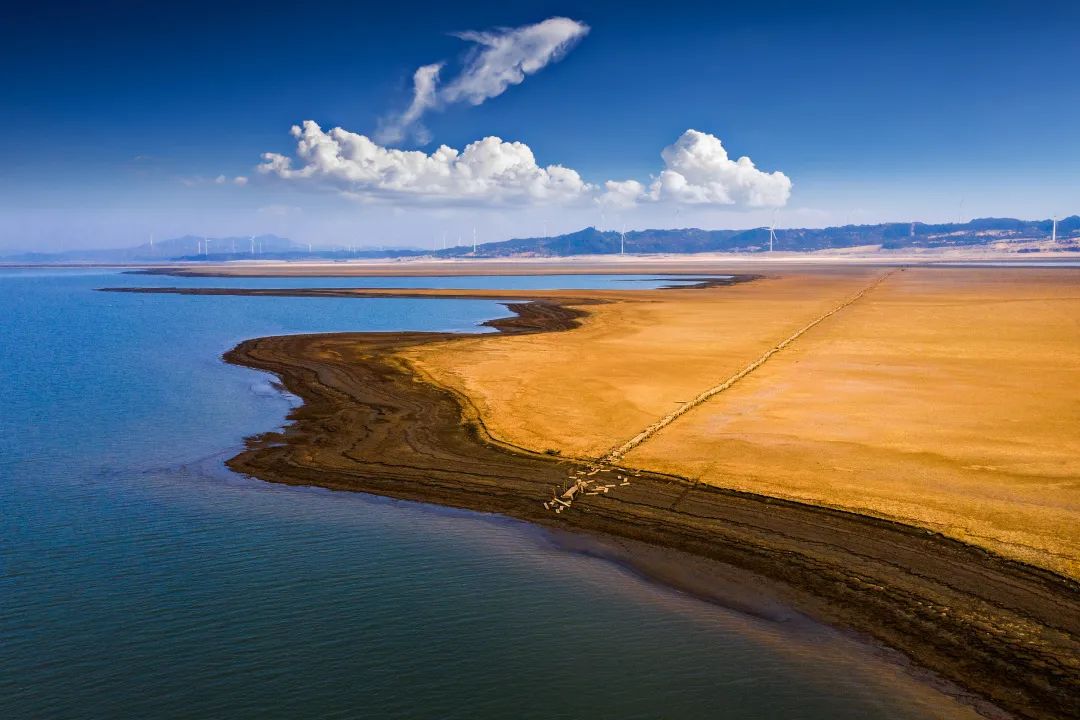
[[[773,218],[775,220],[775,218]],[[625,232],[594,226],[557,235],[510,237],[484,243],[458,242],[442,247],[357,246],[354,239],[315,248],[272,233],[208,237],[187,234],[137,246],[40,249],[10,254],[0,262],[248,262],[248,261],[407,261],[490,259],[567,259],[579,257],[660,257],[717,255],[791,257],[854,255],[904,257],[972,256],[987,253],[1056,256],[1080,253],[1080,216],[1018,219],[983,217],[968,221],[881,221],[831,227],[758,226],[739,229],[642,228]],[[625,255],[624,255],[625,254]]]

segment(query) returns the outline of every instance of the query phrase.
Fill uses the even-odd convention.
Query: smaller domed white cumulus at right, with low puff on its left
[[[637,202],[783,207],[792,194],[786,175],[759,171],[745,155],[731,160],[720,138],[708,133],[688,130],[660,155],[664,169],[647,191],[634,180],[609,181],[600,202],[621,207]]]

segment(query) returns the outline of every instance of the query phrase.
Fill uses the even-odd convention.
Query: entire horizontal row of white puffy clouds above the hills
[[[688,130],[660,155],[664,168],[648,186],[634,179],[585,182],[563,165],[537,164],[524,142],[485,137],[463,150],[400,150],[341,127],[324,131],[306,120],[294,125],[295,158],[262,154],[257,171],[297,184],[333,188],[365,201],[428,205],[523,205],[567,203],[593,198],[602,207],[626,209],[639,203],[669,203],[737,209],[783,207],[791,179],[766,173],[750,158],[731,160],[720,139]],[[294,161],[298,161],[294,164]],[[218,184],[227,182],[219,176]],[[244,185],[247,178],[232,180]]]

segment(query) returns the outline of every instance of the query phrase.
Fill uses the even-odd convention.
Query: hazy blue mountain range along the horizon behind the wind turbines
[[[924,222],[885,222],[848,225],[837,228],[792,228],[775,231],[773,249],[811,252],[865,245],[882,249],[963,247],[996,242],[1049,240],[1052,220],[977,218],[970,222],[928,225]],[[1057,249],[1080,252],[1080,216],[1057,222]],[[569,257],[575,255],[612,255],[626,253],[759,253],[769,249],[769,229],[753,230],[633,230],[625,235],[613,230],[585,228],[565,235],[519,237],[480,245],[475,255],[469,246],[441,250],[416,248],[315,249],[278,235],[253,237],[200,237],[185,235],[137,247],[65,253],[24,253],[0,260],[4,262],[163,262],[226,260],[299,260],[350,258],[404,258],[435,256],[459,257]],[[1039,252],[1028,247],[1018,252]]]

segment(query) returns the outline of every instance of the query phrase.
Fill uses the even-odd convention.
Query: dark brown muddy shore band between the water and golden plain
[[[131,288],[200,295],[402,297],[402,291]],[[426,294],[462,297],[462,294]],[[543,293],[492,293],[505,299]],[[475,298],[476,293],[465,297]],[[570,329],[591,298],[509,303],[504,334]],[[248,441],[237,472],[293,485],[496,512],[715,560],[769,593],[1018,717],[1071,717],[1080,697],[1077,583],[924,530],[643,473],[556,518],[541,501],[583,463],[492,440],[465,398],[396,353],[455,334],[335,334],[248,340],[226,359],[276,373],[303,405]],[[673,510],[678,501],[678,510]]]

